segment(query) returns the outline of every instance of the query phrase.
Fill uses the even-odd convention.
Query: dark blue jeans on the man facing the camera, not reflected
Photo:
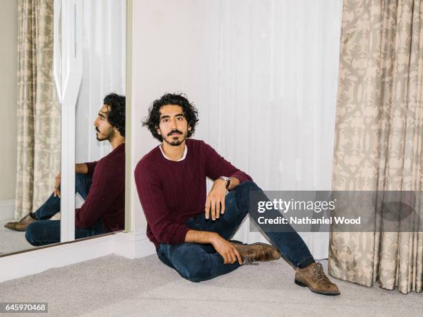
[[[187,226],[198,231],[216,232],[229,240],[247,213],[252,211],[250,209],[250,191],[259,193],[256,197],[260,200],[269,200],[254,182],[243,182],[226,195],[225,213],[220,215],[219,219],[216,221],[206,220],[205,214],[201,213],[196,218],[189,218],[186,222]],[[254,213],[250,213],[250,215],[254,215]],[[273,218],[277,215],[280,216],[281,213],[277,210],[270,210],[266,211],[266,215]],[[295,267],[314,261],[306,243],[290,224],[281,224],[281,226],[286,226],[285,232],[266,232],[266,235],[286,260]],[[212,244],[160,243],[157,254],[165,265],[176,269],[180,276],[192,282],[209,280],[239,267],[238,262],[232,265],[223,264],[222,256],[216,252]]]

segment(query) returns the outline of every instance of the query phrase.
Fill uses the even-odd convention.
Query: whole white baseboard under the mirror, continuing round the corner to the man
[[[0,257],[0,282],[115,253],[141,258],[156,253],[145,233],[115,233]]]

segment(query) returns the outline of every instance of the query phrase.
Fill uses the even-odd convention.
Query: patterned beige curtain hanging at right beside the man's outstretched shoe
[[[422,88],[422,1],[344,1],[334,190],[422,190]],[[422,291],[423,233],[331,233],[329,253],[336,278]]]

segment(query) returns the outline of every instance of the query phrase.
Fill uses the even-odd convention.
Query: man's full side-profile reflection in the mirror
[[[97,162],[76,164],[75,187],[84,204],[75,210],[75,238],[124,229],[125,97],[111,93],[94,122],[97,140],[110,142],[113,151]],[[50,220],[60,211],[60,173],[55,191],[34,213],[5,227],[26,231],[30,244],[60,242],[60,222]]]

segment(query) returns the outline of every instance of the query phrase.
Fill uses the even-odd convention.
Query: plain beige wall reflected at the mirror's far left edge
[[[0,10],[0,201],[15,198],[17,160],[17,1]]]

